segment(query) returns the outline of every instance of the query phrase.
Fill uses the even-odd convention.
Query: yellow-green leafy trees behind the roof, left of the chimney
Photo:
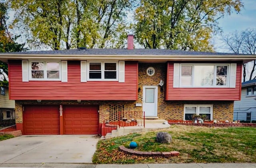
[[[24,29],[33,47],[52,49],[122,46],[133,1],[9,0],[16,11],[13,25]]]

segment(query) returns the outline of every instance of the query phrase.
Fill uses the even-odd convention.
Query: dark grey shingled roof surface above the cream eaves
[[[51,51],[25,51],[12,54],[67,54],[67,55],[246,55],[170,49],[66,49]]]

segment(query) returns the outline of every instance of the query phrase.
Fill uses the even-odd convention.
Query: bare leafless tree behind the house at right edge
[[[232,32],[222,36],[226,48],[234,53],[256,54],[256,29]],[[256,60],[243,64],[243,81],[256,79]]]

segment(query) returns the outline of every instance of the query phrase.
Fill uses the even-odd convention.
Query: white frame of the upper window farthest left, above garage
[[[43,62],[44,63],[44,78],[32,78],[32,62]],[[59,63],[59,78],[47,78],[47,63]],[[28,61],[28,79],[29,81],[61,81],[61,61],[53,60],[53,61],[46,61],[46,60],[29,60]]]

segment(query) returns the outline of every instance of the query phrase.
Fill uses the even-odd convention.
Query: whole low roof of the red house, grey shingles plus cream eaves
[[[256,59],[256,55],[215,53],[170,49],[67,49],[51,51],[24,51],[0,53],[0,60],[8,59],[64,59],[64,60],[120,60],[140,62],[166,61],[243,61]]]

